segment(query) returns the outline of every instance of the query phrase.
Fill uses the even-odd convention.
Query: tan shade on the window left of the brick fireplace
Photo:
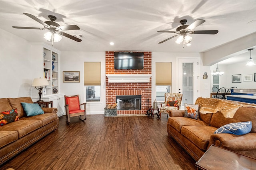
[[[101,85],[100,62],[84,62],[84,85]]]

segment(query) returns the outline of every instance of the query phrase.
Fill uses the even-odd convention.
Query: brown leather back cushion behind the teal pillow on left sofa
[[[26,116],[26,114],[21,106],[21,102],[33,103],[32,99],[30,97],[8,98],[8,100],[9,100],[10,104],[12,105],[12,108],[17,108],[19,118]]]

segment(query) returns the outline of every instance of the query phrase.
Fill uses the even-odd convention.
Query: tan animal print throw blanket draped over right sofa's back
[[[230,100],[224,100],[224,99],[202,98],[202,97],[199,97],[196,100],[196,104],[199,105],[199,112],[202,114],[217,113],[218,111],[220,111],[226,118],[233,118],[236,111],[240,107],[256,108],[256,104],[230,101]]]

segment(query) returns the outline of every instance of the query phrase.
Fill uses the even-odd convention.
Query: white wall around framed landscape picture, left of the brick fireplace
[[[80,83],[64,83],[60,77],[60,91],[64,95],[79,95],[80,102],[85,102],[84,96],[84,62],[101,62],[101,102],[87,102],[88,115],[104,114],[106,107],[105,82],[105,51],[104,52],[69,52],[62,51],[60,57],[60,74],[63,71],[80,71]],[[93,70],[92,70],[93,72]]]

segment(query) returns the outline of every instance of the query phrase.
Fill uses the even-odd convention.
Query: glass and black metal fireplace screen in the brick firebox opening
[[[116,96],[117,110],[141,110],[140,95]]]

